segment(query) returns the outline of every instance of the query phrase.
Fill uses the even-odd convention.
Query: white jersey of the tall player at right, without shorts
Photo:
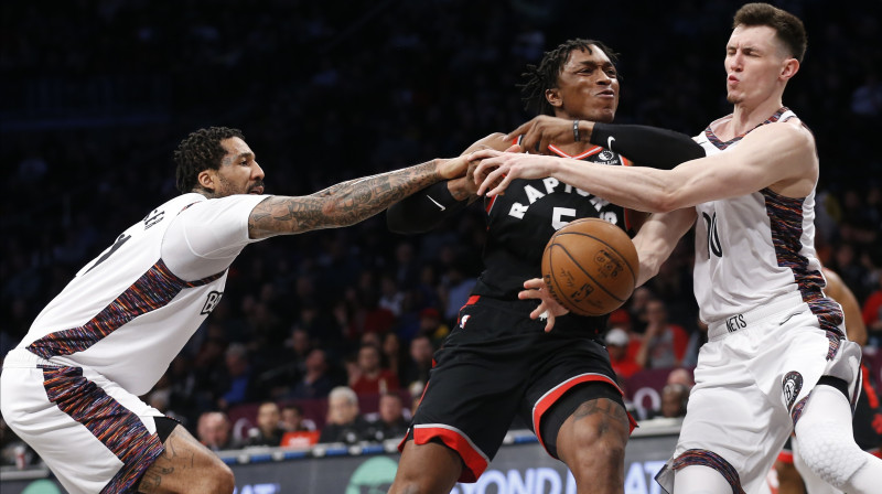
[[[794,117],[781,108],[761,125]],[[696,137],[708,155],[725,152],[743,137],[723,142],[714,135],[728,118]],[[806,197],[785,197],[763,189],[696,208],[695,292],[702,321],[732,319],[738,325],[739,314],[799,293],[821,329],[841,333],[842,312],[822,293],[826,282],[815,254],[814,190]]]

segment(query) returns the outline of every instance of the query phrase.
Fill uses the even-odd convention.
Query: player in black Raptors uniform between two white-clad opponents
[[[596,41],[561,44],[525,74],[528,109],[611,122],[620,95],[615,62],[614,53]],[[657,129],[596,124],[591,142],[580,138],[578,127],[576,132],[571,143],[531,151],[610,167],[630,164],[598,146],[616,136],[670,149],[641,155],[642,148],[633,147],[633,154],[621,148],[643,164],[669,168],[703,155],[687,136]],[[465,153],[512,144],[495,133]],[[424,232],[476,198],[471,176],[440,182],[390,207],[388,224],[398,233]],[[601,340],[606,318],[568,315],[546,333],[544,322],[529,318],[536,303],[518,300],[517,293],[525,279],[539,276],[542,249],[557,229],[582,217],[627,228],[625,211],[555,179],[518,181],[504,196],[485,201],[484,208],[485,270],[434,356],[437,365],[400,447],[390,492],[448,493],[458,480],[476,481],[519,415],[548,453],[570,468],[580,493],[621,493],[625,443],[634,422]]]

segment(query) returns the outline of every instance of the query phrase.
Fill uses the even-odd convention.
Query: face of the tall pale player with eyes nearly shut
[[[739,25],[725,46],[727,99],[733,105],[757,105],[776,97],[776,90],[783,90],[781,83],[786,82],[788,61],[795,62],[776,40],[774,29]]]

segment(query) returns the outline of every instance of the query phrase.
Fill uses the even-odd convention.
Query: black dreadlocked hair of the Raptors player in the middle
[[[536,65],[527,65],[527,72],[520,74],[520,77],[526,80],[524,84],[518,85],[524,109],[531,115],[555,115],[555,108],[545,98],[545,92],[558,87],[558,76],[573,50],[592,53],[592,45],[603,51],[613,65],[619,63],[619,54],[600,41],[582,40],[580,37],[566,41],[555,50],[545,52],[545,56],[539,62],[538,67]]]

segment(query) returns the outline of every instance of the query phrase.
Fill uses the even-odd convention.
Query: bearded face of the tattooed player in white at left
[[[255,161],[255,153],[244,140],[232,137],[220,141],[227,151],[220,160],[215,176],[215,197],[234,194],[262,194],[263,169]]]

